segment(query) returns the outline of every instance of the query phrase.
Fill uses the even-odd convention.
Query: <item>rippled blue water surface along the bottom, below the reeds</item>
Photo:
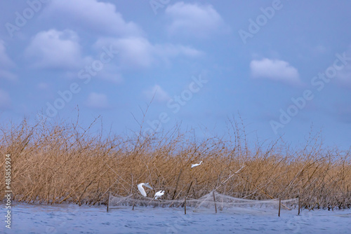
[[[4,219],[6,209],[0,208]],[[199,213],[161,207],[15,205],[11,230],[0,233],[351,233],[351,210],[276,214]]]

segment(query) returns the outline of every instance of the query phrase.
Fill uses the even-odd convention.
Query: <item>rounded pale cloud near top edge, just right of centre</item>
[[[171,25],[168,26],[168,33],[171,35],[204,37],[228,28],[211,5],[185,4],[180,1],[168,6],[165,13],[171,18]]]

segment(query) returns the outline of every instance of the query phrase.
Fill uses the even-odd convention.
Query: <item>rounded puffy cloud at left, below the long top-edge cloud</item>
[[[26,48],[25,56],[32,67],[77,69],[83,64],[78,41],[78,35],[72,30],[39,32]]]

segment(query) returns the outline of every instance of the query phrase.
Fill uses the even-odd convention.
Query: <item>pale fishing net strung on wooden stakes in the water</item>
[[[229,195],[211,191],[199,199],[182,200],[155,200],[144,198],[139,195],[110,195],[108,209],[116,209],[121,206],[152,206],[152,207],[189,207],[193,212],[230,212],[249,214],[271,214],[277,212],[279,199],[249,200],[234,198]],[[298,206],[298,199],[281,200],[282,209],[290,210]]]

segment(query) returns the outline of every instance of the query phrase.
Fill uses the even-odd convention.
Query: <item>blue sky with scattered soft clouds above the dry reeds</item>
[[[0,121],[350,148],[351,1],[0,2]]]

